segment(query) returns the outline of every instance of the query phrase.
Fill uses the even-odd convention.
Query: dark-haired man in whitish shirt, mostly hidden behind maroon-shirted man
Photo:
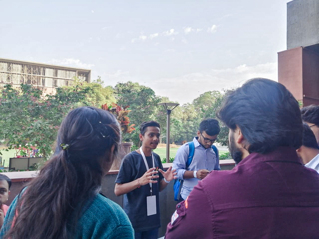
[[[297,149],[301,162],[319,173],[319,147],[315,134],[307,123],[303,123],[302,145]]]

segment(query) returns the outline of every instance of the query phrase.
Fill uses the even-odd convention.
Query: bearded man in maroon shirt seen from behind
[[[319,238],[319,174],[297,156],[303,127],[292,94],[251,79],[227,93],[217,115],[238,164],[199,181],[165,238]]]

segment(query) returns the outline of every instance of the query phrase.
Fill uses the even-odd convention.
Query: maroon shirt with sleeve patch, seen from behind
[[[319,238],[319,174],[292,148],[252,153],[211,171],[175,213],[166,239]]]

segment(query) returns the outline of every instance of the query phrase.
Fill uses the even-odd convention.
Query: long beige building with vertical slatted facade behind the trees
[[[44,93],[54,94],[56,87],[73,85],[74,77],[89,83],[91,70],[0,58],[1,85],[32,84],[43,87]]]

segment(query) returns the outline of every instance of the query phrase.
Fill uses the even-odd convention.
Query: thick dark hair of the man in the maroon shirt
[[[279,146],[297,149],[302,121],[297,100],[278,82],[254,78],[228,91],[217,118],[232,130],[238,126],[249,153],[266,154]]]

